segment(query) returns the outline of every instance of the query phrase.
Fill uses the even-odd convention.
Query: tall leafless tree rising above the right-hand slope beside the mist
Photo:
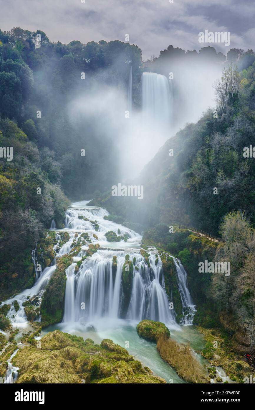
[[[222,77],[214,83],[217,109],[223,112],[232,98],[238,95],[241,77],[236,64],[229,64],[223,69]]]

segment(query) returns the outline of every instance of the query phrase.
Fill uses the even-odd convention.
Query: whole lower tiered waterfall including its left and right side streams
[[[86,203],[73,204],[72,208],[66,211],[64,231],[69,233],[70,239],[61,245],[56,257],[70,253],[74,241],[81,241],[83,238],[86,240],[84,239],[85,244],[83,241],[80,252],[65,271],[63,322],[84,324],[99,318],[121,318],[133,321],[152,319],[162,321],[167,326],[175,325],[176,312],[169,309],[162,262],[160,257],[156,256],[156,248],[147,251],[147,257],[142,255],[141,235],[123,225],[108,221],[105,219],[107,215],[104,208],[89,207]],[[110,230],[119,235],[120,240],[107,241],[105,234]],[[56,232],[56,240],[58,243],[54,248],[60,246],[61,231]],[[99,244],[100,248],[81,261],[90,244]],[[36,263],[36,248],[32,255]],[[131,277],[127,275],[129,291],[125,294],[122,269],[126,255],[129,255],[129,260],[133,262],[133,271],[130,273]],[[115,266],[113,257],[116,257]],[[181,262],[175,258],[173,260],[183,305],[181,324],[192,324],[195,307],[187,287],[187,274]],[[81,261],[81,264],[77,271],[75,268],[78,261]],[[31,289],[25,289],[1,304],[11,305],[7,316],[13,327],[22,328],[27,325],[23,303],[30,299],[35,306],[40,306],[45,287],[55,269],[56,264],[46,267]],[[13,304],[15,300],[20,306],[17,312]]]

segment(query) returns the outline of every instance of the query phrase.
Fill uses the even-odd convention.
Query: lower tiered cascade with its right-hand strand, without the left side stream
[[[94,243],[99,242],[101,248],[81,263],[78,272],[75,271],[75,263],[66,270],[63,322],[86,323],[102,317],[122,317],[137,321],[152,319],[162,321],[169,326],[176,324],[176,313],[169,309],[160,257],[157,258],[156,264],[156,252],[149,251],[148,265],[136,249],[140,248],[140,235],[122,225],[104,219],[108,212],[102,208],[86,207],[86,205],[79,208],[78,205],[78,203],[74,204],[74,207],[66,212],[66,228],[76,232],[86,230],[90,235],[90,240]],[[96,232],[95,223],[98,225]],[[129,239],[126,242],[123,240],[108,242],[105,237],[108,230],[112,230],[117,235],[126,234]],[[93,233],[98,239],[93,237]],[[70,252],[71,243],[72,240],[65,244],[63,253]],[[76,259],[80,260],[86,254],[86,249],[86,246],[81,247],[81,255]],[[131,297],[126,312],[123,312],[122,267],[127,254],[129,254],[129,260],[135,262]],[[113,256],[117,258],[116,271],[113,270]],[[182,295],[183,309],[185,309],[188,305],[192,305],[192,301],[187,283],[182,277],[186,272],[183,267],[182,269],[178,273],[178,285]],[[180,267],[176,262],[176,271],[178,270]],[[191,320],[189,321],[186,315],[182,323],[189,324]]]

